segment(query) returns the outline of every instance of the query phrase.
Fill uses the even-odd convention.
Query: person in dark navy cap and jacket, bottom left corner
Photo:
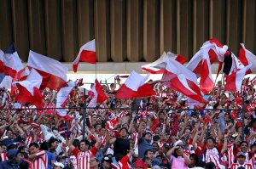
[[[2,169],[18,169],[20,168],[20,152],[18,149],[9,149],[7,151],[8,161],[3,161],[0,163],[0,168]]]

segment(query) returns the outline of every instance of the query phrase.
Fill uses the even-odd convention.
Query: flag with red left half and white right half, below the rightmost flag
[[[230,92],[241,92],[241,83],[243,80],[243,77],[246,75],[247,70],[251,68],[252,65],[247,65],[241,70],[234,71],[231,75],[226,76],[225,79],[225,91],[230,91]]]

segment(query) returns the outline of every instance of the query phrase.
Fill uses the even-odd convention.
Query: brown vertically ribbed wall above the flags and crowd
[[[98,62],[151,62],[163,51],[190,59],[216,37],[256,54],[255,11],[254,0],[1,0],[0,48],[72,62],[95,38]]]

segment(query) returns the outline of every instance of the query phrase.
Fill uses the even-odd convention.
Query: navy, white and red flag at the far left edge
[[[15,77],[16,73],[23,69],[21,59],[14,44],[11,44],[9,48],[4,51],[3,58],[1,59],[3,59],[3,72],[6,76]],[[2,64],[2,61],[0,61],[0,63]]]

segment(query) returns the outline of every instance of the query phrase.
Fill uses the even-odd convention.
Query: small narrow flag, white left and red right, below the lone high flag
[[[91,90],[94,95],[93,98],[90,100],[90,104],[88,105],[88,107],[95,107],[97,103],[102,103],[106,99],[108,99],[108,96],[103,92],[102,85],[98,82],[98,80],[95,80],[95,83]]]

